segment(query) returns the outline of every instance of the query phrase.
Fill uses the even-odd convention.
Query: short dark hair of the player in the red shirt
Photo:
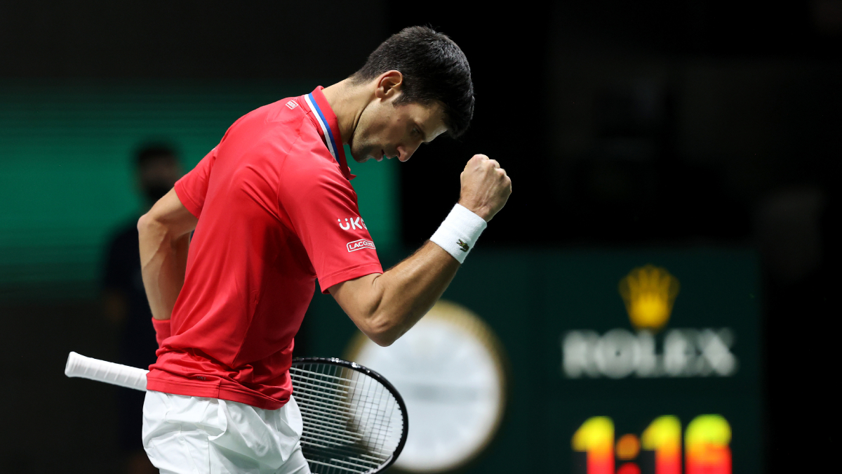
[[[351,78],[362,83],[386,71],[403,75],[396,104],[440,103],[450,136],[464,133],[473,117],[473,82],[465,53],[447,35],[410,26],[383,41]]]

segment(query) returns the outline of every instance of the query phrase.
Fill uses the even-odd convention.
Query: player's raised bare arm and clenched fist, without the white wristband
[[[503,208],[512,182],[497,161],[475,155],[461,175],[459,203],[486,222]],[[460,263],[428,241],[384,273],[372,273],[328,288],[339,306],[372,341],[388,346],[433,307]]]

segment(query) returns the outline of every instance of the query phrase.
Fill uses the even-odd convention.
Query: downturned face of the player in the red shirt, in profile
[[[441,105],[395,105],[400,94],[369,103],[349,140],[351,156],[358,163],[397,157],[406,161],[421,143],[447,131]]]

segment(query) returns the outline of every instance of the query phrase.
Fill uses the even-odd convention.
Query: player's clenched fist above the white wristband
[[[461,174],[459,203],[477,216],[490,221],[506,205],[512,193],[512,180],[496,159],[475,154]]]

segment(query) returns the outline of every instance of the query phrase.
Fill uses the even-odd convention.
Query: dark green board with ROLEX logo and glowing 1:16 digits
[[[600,252],[559,263],[550,284],[565,291],[546,326],[560,348],[551,412],[570,436],[560,471],[758,472],[754,256]]]

